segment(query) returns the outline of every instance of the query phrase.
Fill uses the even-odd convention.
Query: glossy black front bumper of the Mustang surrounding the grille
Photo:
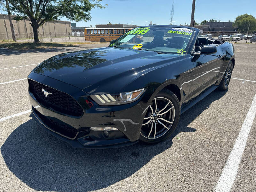
[[[51,83],[52,88],[62,92],[65,92],[65,89],[67,89],[69,91],[67,91],[68,94],[70,94],[70,91],[76,93],[72,95],[75,100],[79,100],[77,98],[81,99],[81,94],[85,94],[78,88],[40,74],[32,73],[28,78],[46,86],[50,86],[49,83]],[[58,86],[56,87],[55,85]],[[75,89],[80,93],[78,94]],[[148,101],[145,93],[143,93],[139,100],[119,106],[99,106],[96,102],[90,100],[91,107],[87,106],[86,108],[83,106],[83,115],[81,117],[74,117],[58,113],[43,106],[30,91],[29,99],[32,104],[31,117],[40,127],[55,137],[68,142],[75,148],[116,148],[138,142],[142,119],[143,115],[145,115],[144,112],[147,111]],[[78,103],[80,104],[80,102],[81,100]],[[56,121],[58,122],[55,123]],[[60,124],[60,126],[56,124]],[[76,134],[72,137],[67,136],[65,130],[63,133],[62,125],[65,130],[70,129],[72,132],[76,132]],[[94,131],[93,133],[90,127],[115,127],[118,131],[109,131],[111,132],[110,137],[102,138],[98,137],[95,133],[101,131]],[[116,133],[112,134],[112,132]]]

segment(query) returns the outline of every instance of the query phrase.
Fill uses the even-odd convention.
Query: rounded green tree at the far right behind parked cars
[[[247,32],[250,23],[249,31],[256,30],[256,18],[252,15],[244,14],[236,17],[234,25],[238,27],[240,32]]]

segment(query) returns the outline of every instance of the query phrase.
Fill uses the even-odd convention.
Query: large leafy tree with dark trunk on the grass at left
[[[47,21],[66,17],[71,21],[91,20],[93,8],[105,8],[101,0],[9,0],[9,7],[16,13],[16,21],[28,19],[33,28],[34,42],[39,42],[38,28]]]

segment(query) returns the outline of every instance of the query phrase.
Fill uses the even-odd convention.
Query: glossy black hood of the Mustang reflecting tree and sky
[[[71,84],[88,94],[114,94],[147,72],[180,57],[184,55],[104,47],[53,56],[32,72]]]

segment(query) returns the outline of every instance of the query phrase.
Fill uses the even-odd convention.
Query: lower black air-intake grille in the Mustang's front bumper
[[[63,121],[60,121],[59,119],[56,119],[54,117],[48,117],[42,115],[39,111],[37,111],[33,106],[33,111],[36,113],[36,115],[41,119],[41,121],[52,130],[70,138],[74,139],[76,137],[76,134],[78,130]]]

